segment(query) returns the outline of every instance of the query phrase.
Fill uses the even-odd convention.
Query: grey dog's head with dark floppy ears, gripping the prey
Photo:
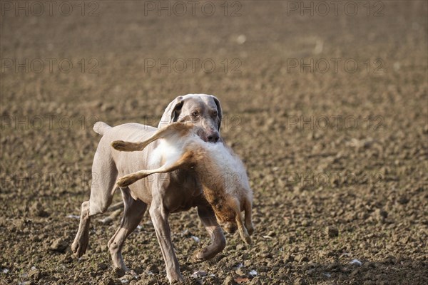
[[[213,95],[188,94],[178,96],[165,109],[158,128],[173,122],[192,122],[202,128],[198,133],[205,142],[220,140],[220,125],[223,117],[220,101]]]

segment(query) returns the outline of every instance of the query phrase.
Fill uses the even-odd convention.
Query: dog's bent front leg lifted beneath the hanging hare
[[[221,252],[226,247],[226,239],[217,219],[215,219],[213,209],[210,207],[198,206],[198,215],[208,234],[210,234],[211,244],[195,252],[193,259],[195,261],[204,261],[212,259],[216,254]]]

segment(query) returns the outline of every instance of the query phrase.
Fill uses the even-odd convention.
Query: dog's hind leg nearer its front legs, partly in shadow
[[[129,194],[128,187],[121,188],[121,191],[125,204],[125,211],[123,212],[121,227],[117,229],[116,233],[108,242],[108,249],[110,250],[111,259],[113,259],[113,265],[117,268],[128,270],[123,262],[122,247],[126,237],[136,229],[143,218],[144,212],[146,212],[147,209],[147,204],[141,200],[133,199]]]

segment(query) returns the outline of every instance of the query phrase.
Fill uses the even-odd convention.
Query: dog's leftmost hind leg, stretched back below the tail
[[[116,190],[115,182],[118,172],[113,160],[109,158],[109,154],[100,155],[98,150],[93,158],[91,197],[89,201],[82,203],[78,232],[71,244],[71,251],[77,257],[81,257],[88,247],[91,217],[106,212]]]

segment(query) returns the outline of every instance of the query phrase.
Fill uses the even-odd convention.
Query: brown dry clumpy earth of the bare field
[[[227,234],[211,261],[190,260],[209,242],[195,209],[171,215],[188,284],[428,284],[426,1],[355,1],[354,16],[345,2],[325,16],[299,1],[198,1],[185,16],[175,2],[170,16],[158,1],[16,3],[1,1],[0,284],[167,282],[147,214],[123,250],[132,271],[106,246],[120,211],[93,219],[80,259],[70,244],[93,123],[157,125],[185,93],[220,98],[255,192],[253,245]]]

